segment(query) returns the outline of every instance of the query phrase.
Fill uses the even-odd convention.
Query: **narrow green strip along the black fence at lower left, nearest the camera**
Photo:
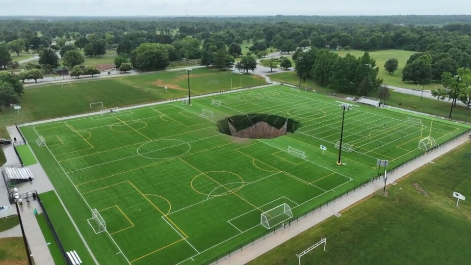
[[[51,175],[49,175],[49,177],[51,177]],[[63,194],[63,196],[67,197],[68,195]],[[39,194],[39,197],[41,198],[44,208],[48,212],[49,218],[51,218],[52,226],[54,227],[54,230],[57,233],[64,250],[75,250],[84,264],[94,264],[90,254],[83,244],[83,241],[80,239],[64,208],[62,208],[60,201],[57,198],[57,195],[55,195],[54,191],[52,190],[41,193]],[[69,212],[72,213],[72,211],[75,211],[75,209],[70,208]],[[52,233],[51,230],[49,230],[48,225],[45,223],[45,217],[41,214],[36,218],[38,220],[39,226],[41,227],[44,238],[46,238],[47,242],[51,242],[49,249],[51,251],[52,258],[54,259],[54,263],[63,264],[65,261],[62,259],[60,252],[58,252],[59,248],[52,238],[52,234],[50,234]]]

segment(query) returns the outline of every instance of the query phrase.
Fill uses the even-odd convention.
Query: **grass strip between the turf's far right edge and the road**
[[[295,85],[299,84],[299,77],[296,76],[296,73],[292,71],[270,75],[270,79],[273,81],[286,82]],[[322,91],[323,93],[328,94],[337,92],[334,89],[319,86],[313,79],[306,79],[306,82],[302,82],[301,86],[314,88],[317,92]],[[379,98],[379,92],[379,90],[372,91],[368,96]],[[442,117],[448,117],[450,113],[451,105],[448,102],[427,98],[420,99],[418,96],[394,92],[391,89],[390,93],[391,97],[386,100],[386,104],[388,105],[413,109]],[[358,97],[358,95],[351,96]],[[471,110],[467,109],[465,106],[455,106],[453,107],[452,118],[471,122]]]

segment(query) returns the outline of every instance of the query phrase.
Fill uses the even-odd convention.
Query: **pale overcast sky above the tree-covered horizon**
[[[471,14],[471,0],[0,0],[0,16]]]

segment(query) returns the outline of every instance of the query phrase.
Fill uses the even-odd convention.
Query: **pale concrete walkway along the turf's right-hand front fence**
[[[390,175],[388,175],[388,178],[387,178],[388,185],[406,176],[412,171],[418,169],[419,167],[427,164],[433,159],[437,159],[438,157],[453,150],[454,148],[466,143],[469,140],[470,140],[469,135],[465,134],[462,137],[457,138],[453,142],[449,142],[445,146],[442,146],[441,148],[436,149],[433,152],[427,153],[425,156],[419,159],[416,159],[412,162],[404,164],[401,168],[398,168],[397,170],[390,172]],[[383,186],[384,186],[383,178],[375,182],[370,182],[369,184],[355,190],[354,192],[351,192],[343,196],[342,198],[336,200],[335,202],[332,202],[331,204],[323,207],[321,210],[316,210],[312,215],[298,222],[291,223],[291,225],[287,226],[285,229],[280,228],[279,230],[277,230],[275,234],[270,234],[271,236],[267,236],[265,240],[260,240],[254,245],[250,245],[241,251],[239,250],[235,253],[232,253],[230,257],[225,257],[225,258],[220,259],[217,264],[244,265],[254,260],[255,258],[261,256],[262,254],[270,251],[276,246],[282,244],[283,242],[288,241],[289,239],[295,237],[296,235],[299,235],[300,233],[313,227],[314,225],[326,220],[332,215],[338,212],[341,212],[347,209],[348,207],[352,206],[353,204],[367,198],[374,192],[382,189]],[[341,216],[339,218],[341,218]],[[320,238],[318,239],[320,240]],[[301,252],[302,249],[300,249],[299,251]],[[295,258],[294,254],[295,253],[287,253],[287,255],[292,255],[293,259]],[[216,263],[213,263],[213,264],[216,264]]]

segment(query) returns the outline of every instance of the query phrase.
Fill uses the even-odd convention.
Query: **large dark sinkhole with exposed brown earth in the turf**
[[[240,138],[271,139],[298,130],[299,121],[271,114],[235,115],[219,120],[219,131]]]

